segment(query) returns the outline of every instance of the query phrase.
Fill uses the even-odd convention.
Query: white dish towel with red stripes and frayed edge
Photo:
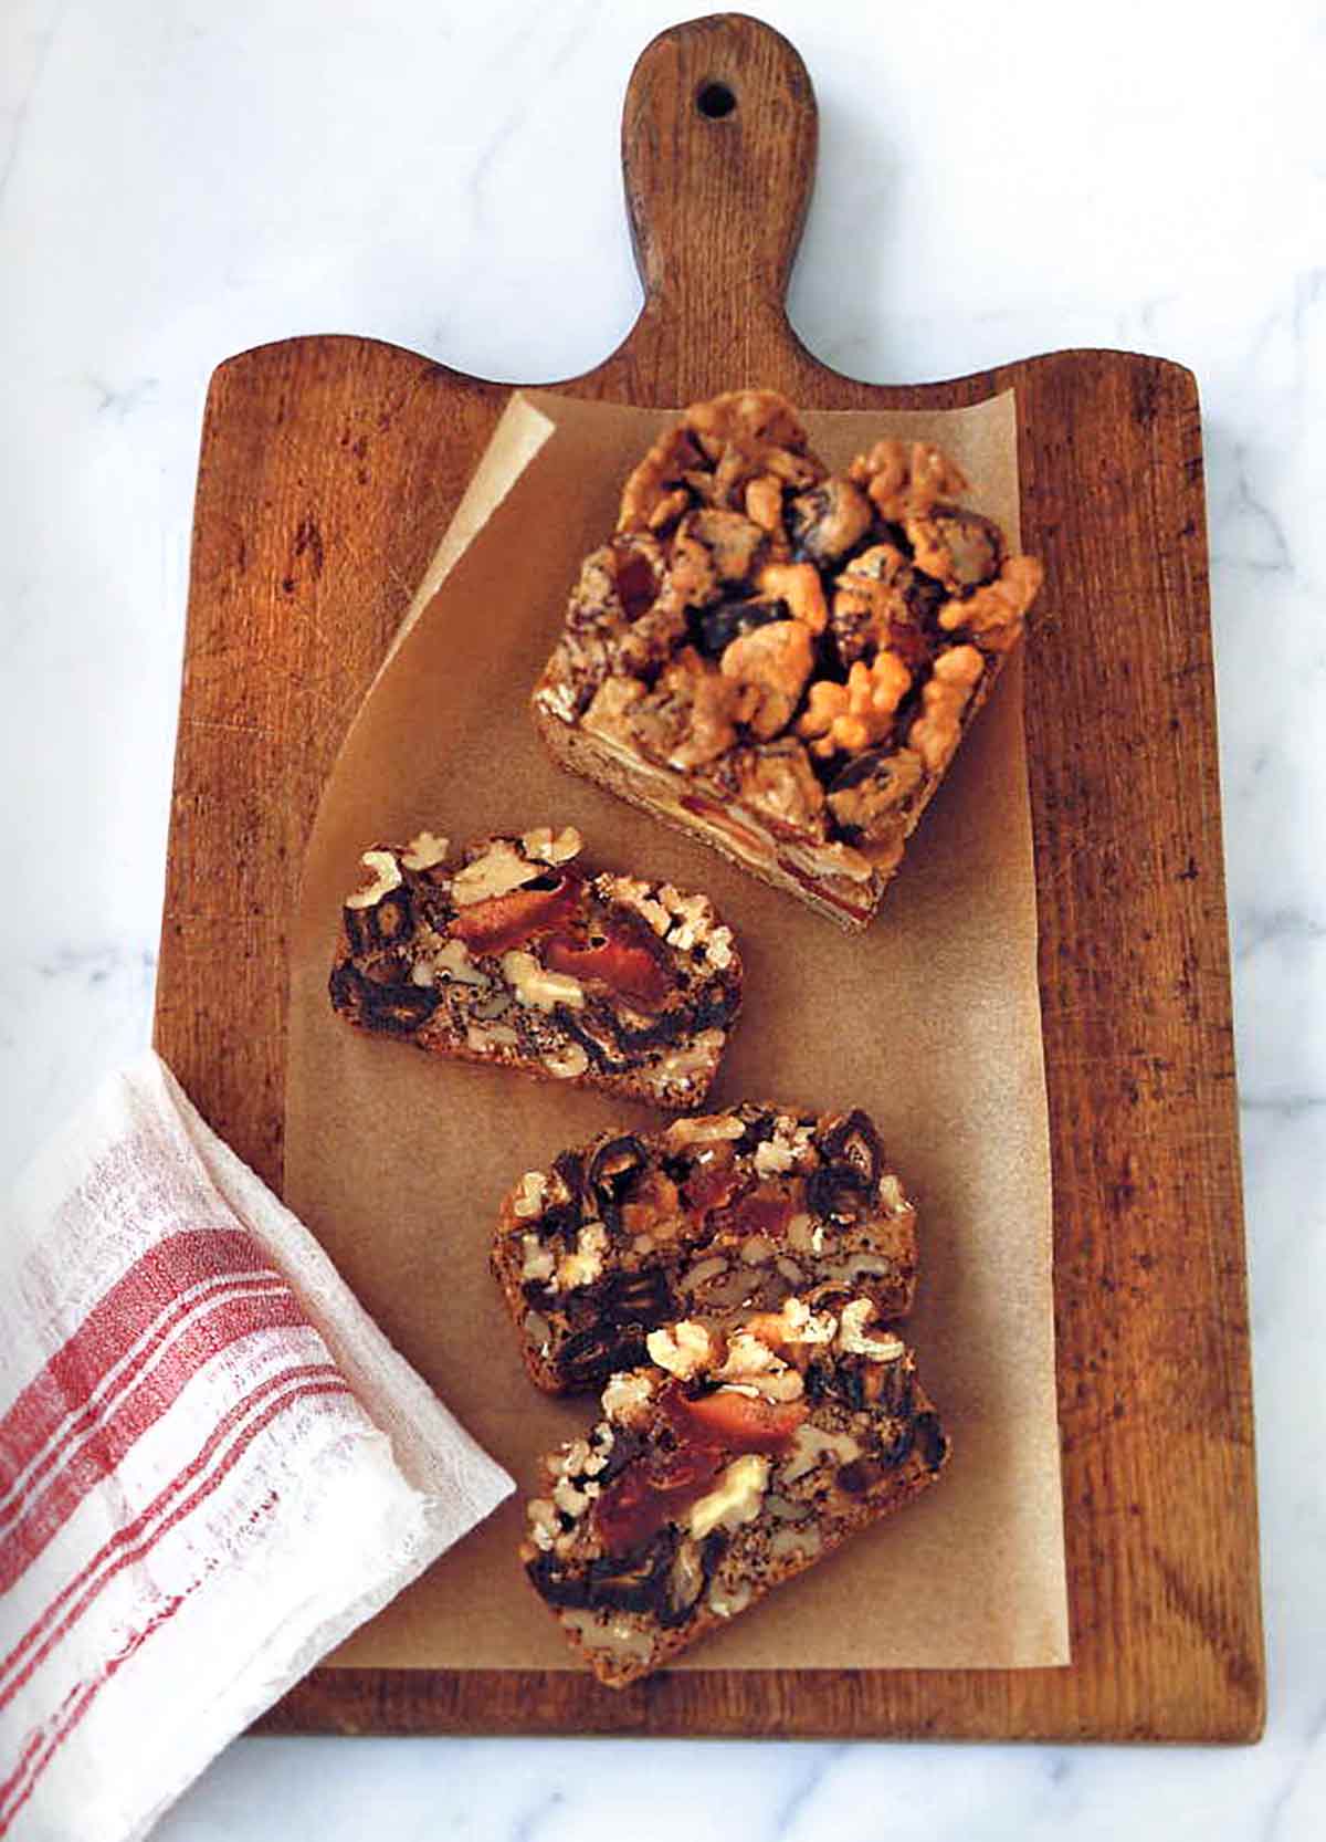
[[[0,1836],[142,1836],[512,1488],[145,1055],[0,1218]]]

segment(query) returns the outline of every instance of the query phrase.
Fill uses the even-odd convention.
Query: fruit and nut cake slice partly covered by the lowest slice
[[[902,1317],[915,1210],[864,1113],[744,1103],[663,1133],[600,1133],[527,1172],[492,1251],[538,1387],[600,1387],[674,1317],[731,1323],[790,1293]]]

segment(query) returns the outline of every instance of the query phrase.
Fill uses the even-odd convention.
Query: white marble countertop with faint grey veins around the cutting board
[[[816,81],[792,287],[873,379],[1072,344],[1201,381],[1271,1720],[1254,1750],[241,1741],[169,1842],[1326,1827],[1326,20],[1186,0],[753,11]],[[676,0],[9,0],[0,20],[0,1184],[149,1035],[214,365],[374,333],[494,378],[639,302],[621,90]],[[551,306],[554,304],[554,306]],[[1313,820],[1311,814],[1319,818]],[[44,917],[44,919],[42,919]],[[740,1813],[740,1814],[737,1814]],[[1319,1827],[1320,1825],[1320,1827]]]

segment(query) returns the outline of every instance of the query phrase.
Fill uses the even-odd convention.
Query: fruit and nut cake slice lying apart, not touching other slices
[[[332,1004],[440,1055],[698,1105],[740,1008],[731,930],[704,895],[578,857],[547,825],[455,857],[431,833],[365,851]]]

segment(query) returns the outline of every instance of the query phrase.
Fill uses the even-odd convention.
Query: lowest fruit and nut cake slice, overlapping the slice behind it
[[[543,1461],[521,1558],[610,1687],[657,1669],[932,1485],[948,1442],[869,1299],[654,1330]]]

